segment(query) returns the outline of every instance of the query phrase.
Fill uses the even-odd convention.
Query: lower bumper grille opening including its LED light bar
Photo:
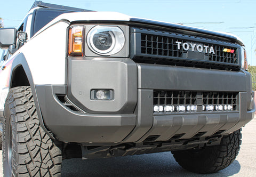
[[[238,92],[154,91],[154,112],[237,110]]]

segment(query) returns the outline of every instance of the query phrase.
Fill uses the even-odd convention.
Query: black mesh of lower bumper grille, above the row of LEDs
[[[198,92],[198,91],[154,91],[154,105],[189,106],[196,105],[197,111],[205,111],[207,105],[230,105],[238,110],[238,92]],[[214,110],[216,111],[216,110]],[[219,111],[219,110],[218,110]]]

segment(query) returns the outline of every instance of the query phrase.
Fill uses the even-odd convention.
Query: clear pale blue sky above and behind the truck
[[[0,0],[4,27],[18,28],[33,0]],[[256,66],[255,0],[44,0],[45,3],[94,11],[120,12],[132,17],[183,23],[214,31],[232,33],[246,46],[249,65]],[[0,50],[0,54],[2,51]]]

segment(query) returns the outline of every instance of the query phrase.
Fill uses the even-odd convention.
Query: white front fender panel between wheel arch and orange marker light
[[[34,84],[65,84],[66,22],[47,28],[19,51],[25,55]]]

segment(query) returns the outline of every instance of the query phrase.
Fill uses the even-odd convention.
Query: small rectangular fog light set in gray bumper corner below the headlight
[[[113,90],[92,90],[91,99],[92,100],[112,100]]]

